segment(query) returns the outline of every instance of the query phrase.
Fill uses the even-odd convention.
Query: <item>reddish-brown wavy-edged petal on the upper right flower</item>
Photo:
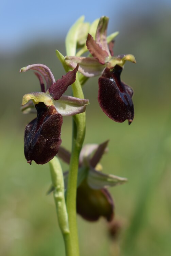
[[[96,43],[90,34],[87,36],[86,46],[91,55],[104,65],[106,58],[108,57],[108,53],[103,50],[98,43]]]

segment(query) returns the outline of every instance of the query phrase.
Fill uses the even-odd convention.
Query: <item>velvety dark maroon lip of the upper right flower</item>
[[[103,112],[116,122],[134,118],[133,90],[120,80],[122,68],[118,65],[111,71],[106,68],[99,78],[98,101]]]

